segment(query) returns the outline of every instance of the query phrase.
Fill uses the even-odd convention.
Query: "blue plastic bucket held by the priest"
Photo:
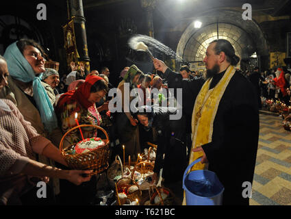
[[[223,185],[215,172],[209,170],[194,170],[187,172],[201,161],[201,158],[192,162],[185,170],[183,189],[185,190],[186,205],[222,205]]]

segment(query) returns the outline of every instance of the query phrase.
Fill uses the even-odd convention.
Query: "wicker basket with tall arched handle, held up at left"
[[[106,139],[103,140],[105,144],[103,146],[99,146],[97,149],[94,149],[93,151],[89,151],[86,153],[79,153],[73,155],[68,154],[69,151],[72,151],[75,148],[75,145],[77,143],[71,144],[70,146],[63,149],[64,139],[68,135],[68,133],[81,127],[94,127],[96,129],[100,129],[101,131],[103,131],[103,133],[106,136]],[[110,144],[109,137],[107,135],[107,132],[103,128],[97,125],[78,125],[76,127],[73,127],[73,129],[70,129],[64,134],[60,142],[60,152],[64,156],[64,159],[66,160],[66,163],[68,164],[69,168],[75,170],[90,169],[93,170],[91,175],[98,175],[99,173],[106,170],[109,166],[108,164],[108,159],[110,157],[109,144]]]

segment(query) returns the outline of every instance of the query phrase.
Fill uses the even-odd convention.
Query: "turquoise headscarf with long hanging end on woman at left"
[[[36,77],[34,70],[18,49],[16,42],[7,47],[3,56],[7,62],[8,71],[14,79],[25,83],[33,81],[34,101],[36,101],[38,111],[40,112],[42,123],[47,131],[53,131],[53,129],[58,127],[58,120],[57,116],[55,116],[53,105],[49,101],[49,96],[40,83],[40,77]]]

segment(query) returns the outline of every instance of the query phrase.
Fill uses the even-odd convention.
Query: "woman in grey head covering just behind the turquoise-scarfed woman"
[[[42,86],[47,91],[51,105],[55,104],[55,95],[58,94],[56,87],[60,83],[60,75],[58,71],[53,68],[46,68],[45,73],[42,74]]]

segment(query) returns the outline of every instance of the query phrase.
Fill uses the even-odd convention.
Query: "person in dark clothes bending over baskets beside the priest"
[[[184,118],[171,120],[170,115],[177,114],[175,107],[159,107],[158,105],[144,105],[138,107],[134,117],[139,120],[146,131],[155,131],[157,136],[157,154],[153,169],[153,181],[157,183],[160,169],[164,186],[170,188],[173,183],[178,183],[182,188],[184,170],[186,169],[186,145]],[[155,136],[155,135],[153,135]],[[164,156],[164,159],[163,159]],[[177,184],[176,184],[177,187]],[[182,196],[182,190],[177,196]]]

